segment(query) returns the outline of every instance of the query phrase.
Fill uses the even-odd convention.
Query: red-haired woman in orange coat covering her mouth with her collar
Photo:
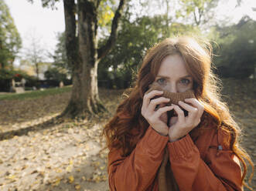
[[[210,45],[191,38],[148,51],[135,88],[104,127],[111,190],[243,190],[244,159],[253,163],[210,64]]]

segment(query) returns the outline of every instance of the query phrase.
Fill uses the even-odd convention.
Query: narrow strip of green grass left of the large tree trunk
[[[53,88],[53,89],[44,89],[44,90],[35,90],[32,92],[24,92],[24,93],[9,93],[0,95],[0,101],[1,100],[14,100],[14,99],[37,99],[42,96],[46,95],[55,95],[60,94],[63,92],[70,92],[71,91],[71,85],[65,86],[63,88]]]

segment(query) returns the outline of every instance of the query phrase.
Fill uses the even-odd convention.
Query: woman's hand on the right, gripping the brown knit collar
[[[185,103],[188,102],[189,104]],[[182,106],[183,109],[189,112],[188,116],[184,116],[184,112],[179,106],[172,104],[174,110],[178,116],[174,116],[170,119],[170,128],[169,128],[169,141],[174,142],[183,136],[186,136],[192,129],[194,129],[199,123],[200,118],[203,115],[204,107],[203,105],[195,98],[185,99],[185,102],[179,101],[179,106]]]

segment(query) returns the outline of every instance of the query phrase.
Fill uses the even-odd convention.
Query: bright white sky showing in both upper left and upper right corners
[[[56,3],[57,10],[52,10],[43,8],[41,0],[34,0],[33,4],[27,0],[4,1],[22,37],[22,46],[28,47],[29,36],[34,35],[35,38],[40,39],[43,47],[53,53],[57,43],[56,34],[65,30],[63,2]],[[251,10],[251,7],[256,8],[256,0],[242,0],[239,8],[235,8],[236,0],[221,2],[217,18],[229,16],[232,22],[238,22],[244,14],[247,14],[256,20],[256,12]],[[15,62],[15,65],[19,65],[19,60]]]

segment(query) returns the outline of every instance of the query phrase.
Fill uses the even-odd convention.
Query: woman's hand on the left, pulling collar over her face
[[[162,91],[153,90],[144,95],[142,103],[142,116],[148,121],[155,131],[159,132],[162,136],[167,136],[169,133],[169,127],[167,126],[167,114],[166,112],[173,109],[173,106],[163,106],[159,109],[155,109],[156,106],[162,106],[163,103],[169,102],[170,99],[160,97],[152,99],[156,95],[162,95]]]

